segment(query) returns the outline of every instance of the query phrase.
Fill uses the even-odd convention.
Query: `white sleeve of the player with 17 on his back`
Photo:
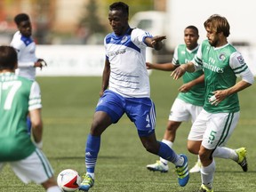
[[[28,110],[31,111],[37,108],[42,108],[41,91],[39,84],[37,84],[37,82],[34,81],[30,88]]]

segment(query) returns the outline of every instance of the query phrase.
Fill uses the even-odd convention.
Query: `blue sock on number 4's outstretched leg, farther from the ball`
[[[157,155],[175,164],[178,161],[179,156],[164,142],[158,142],[160,144],[160,148]]]

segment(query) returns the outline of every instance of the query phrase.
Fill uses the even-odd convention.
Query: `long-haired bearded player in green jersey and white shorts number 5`
[[[186,71],[204,69],[206,100],[188,134],[188,150],[199,154],[202,162],[202,184],[198,191],[211,192],[215,172],[214,153],[226,154],[247,171],[246,158],[240,153],[243,150],[218,150],[217,147],[225,146],[238,122],[240,107],[237,92],[252,85],[254,77],[241,53],[228,44],[230,27],[225,17],[212,15],[204,21],[204,28],[208,40],[200,44],[194,60],[180,65],[171,76],[178,79]],[[241,80],[236,82],[236,76],[241,76]]]

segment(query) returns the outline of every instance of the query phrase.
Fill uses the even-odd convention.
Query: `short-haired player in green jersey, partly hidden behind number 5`
[[[197,44],[199,38],[198,29],[195,26],[188,26],[184,30],[185,44],[179,44],[174,51],[172,63],[152,64],[147,62],[148,69],[159,69],[164,71],[173,71],[178,68],[180,64],[187,63],[193,60],[199,45]],[[198,70],[196,73],[185,73],[183,76],[183,83],[179,91],[178,97],[174,100],[169,115],[169,121],[164,132],[164,142],[172,148],[176,137],[176,131],[180,124],[188,121],[191,117],[192,124],[195,122],[196,116],[201,112],[204,106],[204,72]],[[200,172],[201,162],[198,158],[195,166],[189,172]],[[158,172],[168,172],[168,161],[161,158],[156,161],[156,164],[148,164],[148,170]]]

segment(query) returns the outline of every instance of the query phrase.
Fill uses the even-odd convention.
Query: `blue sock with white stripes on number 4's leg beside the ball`
[[[85,149],[85,165],[87,172],[94,172],[99,151],[100,137],[92,136],[89,133]]]

